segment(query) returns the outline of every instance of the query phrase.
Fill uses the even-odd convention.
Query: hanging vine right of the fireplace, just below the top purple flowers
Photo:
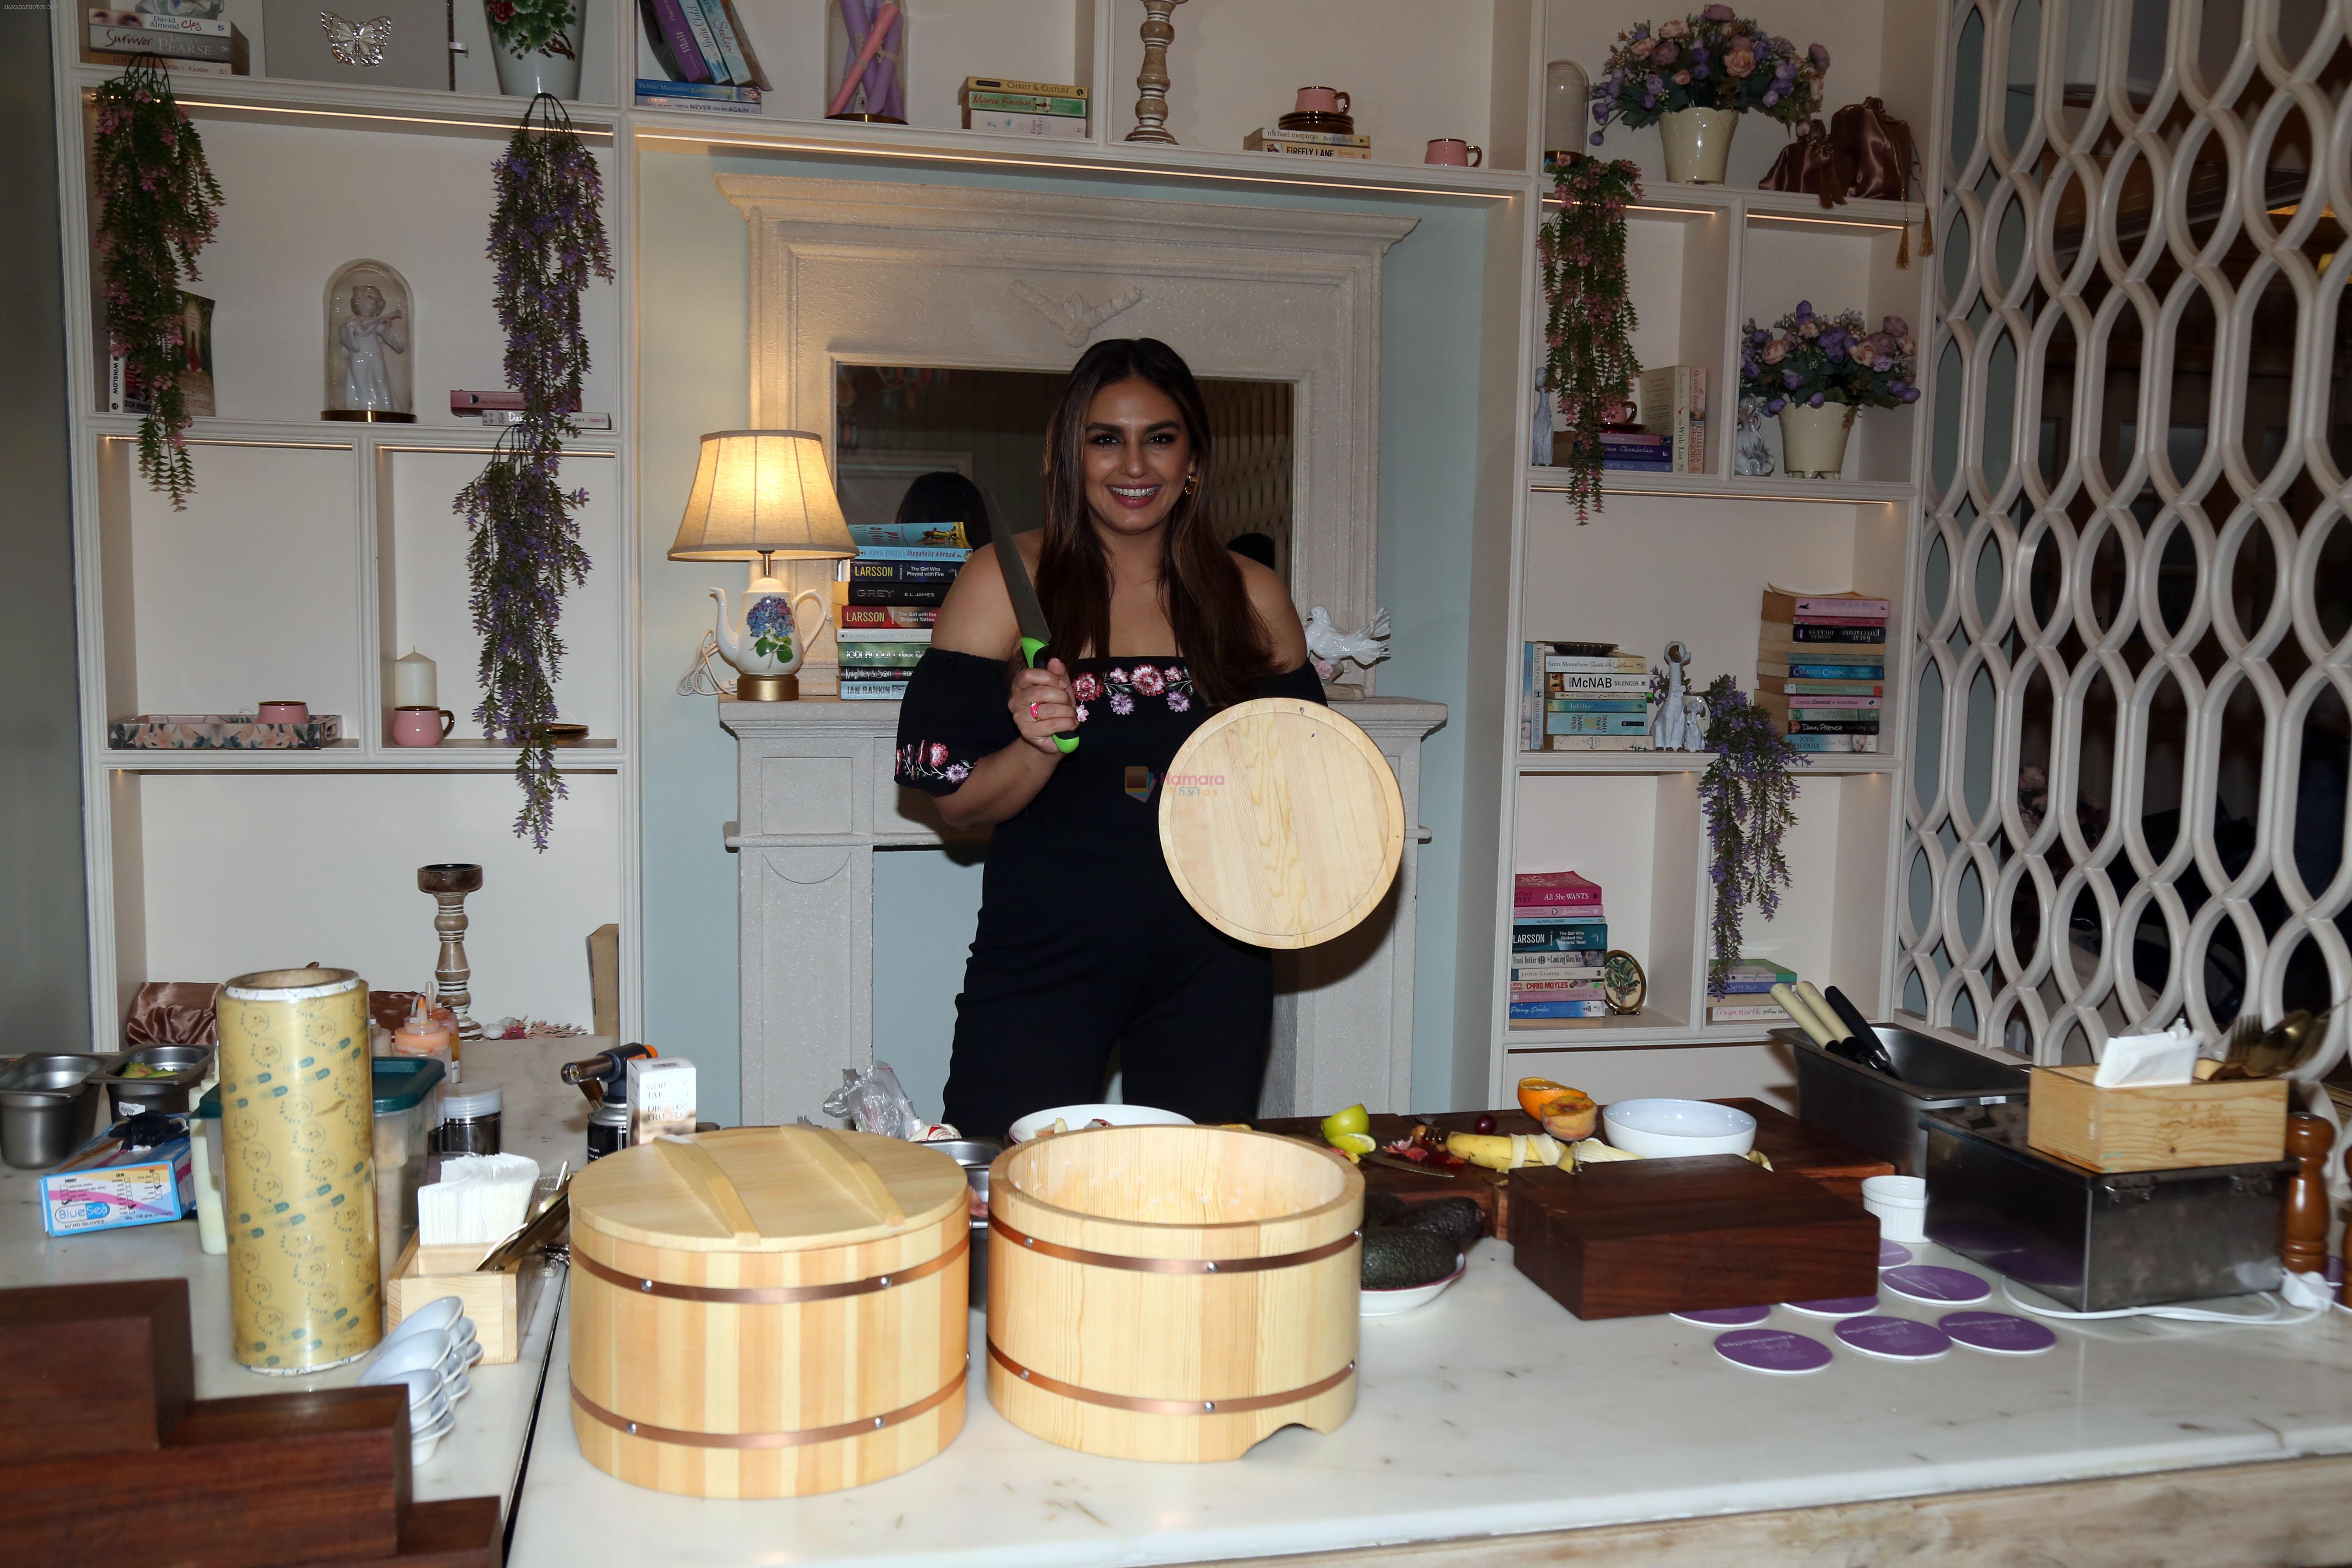
[[[1576,522],[1602,510],[1602,425],[1628,418],[1632,329],[1625,284],[1625,209],[1642,197],[1639,165],[1571,158],[1559,167],[1559,214],[1536,235],[1543,261],[1543,383],[1559,400],[1566,430],[1552,437],[1552,465],[1566,470]]]

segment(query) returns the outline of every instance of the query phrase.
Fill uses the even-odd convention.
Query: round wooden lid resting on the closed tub
[[[621,1150],[572,1178],[572,1225],[684,1253],[797,1253],[964,1208],[938,1150],[816,1126],[739,1126]]]

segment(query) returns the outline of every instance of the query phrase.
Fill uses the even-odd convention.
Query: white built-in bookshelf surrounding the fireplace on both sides
[[[1926,0],[1809,0],[1802,14],[1788,7],[1790,14],[1764,21],[1799,42],[1825,38],[1839,52],[1832,101],[1875,92],[1926,127],[1929,9]],[[228,0],[228,16],[252,40],[254,75],[176,82],[230,200],[221,242],[205,254],[205,280],[195,284],[219,299],[214,336],[228,360],[221,418],[202,418],[191,430],[198,498],[186,515],[172,515],[136,482],[122,440],[136,421],[92,411],[96,355],[87,310],[82,115],[87,94],[111,71],[80,61],[80,14],[73,7],[54,14],[101,1039],[111,1037],[129,987],[146,978],[183,978],[172,973],[174,964],[198,964],[212,952],[205,947],[209,929],[242,922],[256,933],[256,947],[287,961],[334,961],[341,950],[325,936],[310,938],[325,931],[310,907],[325,879],[341,879],[336,893],[346,903],[374,898],[390,910],[381,931],[360,922],[332,931],[336,940],[362,950],[397,940],[400,954],[414,952],[409,926],[423,922],[409,867],[435,858],[482,858],[489,865],[485,898],[510,889],[517,910],[583,910],[600,922],[609,905],[623,931],[621,1027],[642,1030],[637,693],[644,661],[635,562],[647,531],[668,527],[675,496],[637,494],[649,456],[640,449],[637,409],[663,388],[640,383],[637,292],[647,280],[633,223],[640,162],[680,153],[767,153],[851,176],[903,169],[915,179],[957,179],[978,169],[1073,193],[1117,183],[1167,195],[1225,188],[1364,202],[1442,200],[1484,214],[1479,480],[1470,543],[1475,602],[1501,614],[1482,616],[1470,632],[1472,701],[1461,715],[1468,842],[1456,1084],[1484,1079],[1463,1093],[1496,1103],[1494,1088],[1515,1077],[1522,1053],[1557,1063],[1550,1053],[1595,1044],[1661,1053],[1755,1039],[1755,1030],[1691,1023],[1705,933],[1696,783],[1708,759],[1519,752],[1519,642],[1602,635],[1656,654],[1668,637],[1689,637],[1698,644],[1700,672],[1731,670],[1752,679],[1757,592],[1766,581],[1875,588],[1903,599],[1919,433],[1917,421],[1867,428],[1858,440],[1860,461],[1835,482],[1740,480],[1729,473],[1729,418],[1719,418],[1712,473],[1616,475],[1609,508],[1590,529],[1576,529],[1555,494],[1557,473],[1529,465],[1541,322],[1534,237],[1548,195],[1538,174],[1543,66],[1573,56],[1597,75],[1609,38],[1635,12],[1621,16],[1571,0],[1472,0],[1463,7],[1364,0],[1348,26],[1334,26],[1317,0],[1188,5],[1176,12],[1171,52],[1176,146],[1124,141],[1141,63],[1141,7],[1131,0],[922,0],[910,35],[913,122],[903,127],[823,118],[823,0],[739,0],[739,12],[776,87],[760,115],[706,115],[635,108],[633,78],[644,59],[637,7],[588,0],[581,101],[567,108],[604,167],[619,287],[600,284],[588,296],[595,371],[586,407],[612,411],[616,428],[583,435],[567,463],[567,475],[595,494],[583,515],[595,576],[567,611],[572,654],[562,703],[567,717],[579,708],[593,741],[562,752],[574,799],[557,809],[555,849],[529,856],[522,846],[520,858],[506,853],[513,846],[506,825],[517,804],[506,778],[510,752],[480,741],[402,750],[383,733],[386,665],[409,642],[440,663],[442,705],[463,712],[473,703],[463,524],[447,503],[480,465],[492,433],[449,421],[435,411],[435,400],[449,386],[499,383],[501,339],[482,259],[487,150],[510,134],[522,110],[520,99],[496,94],[477,0],[456,0],[452,12],[459,38],[470,45],[456,68],[456,92],[270,78],[259,0]],[[1087,85],[1089,134],[1044,141],[960,129],[955,89],[967,73]],[[1371,160],[1242,150],[1242,136],[1270,125],[1301,82],[1352,94],[1357,125],[1374,139]],[[1423,165],[1423,143],[1432,136],[1484,146],[1486,165]],[[1856,303],[1915,320],[1924,315],[1926,289],[1919,261],[1907,273],[1891,268],[1893,223],[1905,216],[1898,205],[1853,202],[1823,214],[1813,197],[1752,190],[1780,136],[1762,120],[1745,125],[1740,136],[1731,186],[1651,179],[1632,216],[1635,299],[1644,317],[1637,350],[1646,364],[1710,364],[1717,407],[1726,414],[1733,402],[1726,395],[1731,334],[1750,310],[1778,315],[1792,303],[1795,296],[1778,299],[1792,280],[1806,280],[1825,308]],[[1658,134],[1611,129],[1602,155],[1637,158],[1656,176]],[[369,195],[355,190],[360,174]],[[416,287],[416,425],[355,428],[315,418],[318,289],[353,256],[395,261]],[[1846,299],[1828,282],[1813,287],[1816,277],[1858,296]],[[1910,310],[1889,303],[1898,299]],[[247,574],[256,569],[278,574],[282,592],[252,592]],[[230,611],[219,609],[226,592],[240,595]],[[219,632],[219,614],[238,618],[235,637]],[[160,621],[148,623],[148,616]],[[1900,630],[1889,646],[1905,646]],[[661,646],[654,661],[668,672],[673,651]],[[108,717],[176,710],[162,701],[167,693],[191,710],[306,696],[313,708],[343,715],[348,741],[292,755],[106,750]],[[461,736],[468,729],[461,722]],[[1889,947],[1898,724],[1889,722],[1884,743],[1886,752],[1823,757],[1809,771],[1799,837],[1816,858],[1790,893],[1797,919],[1780,922],[1806,926],[1804,966],[1828,966],[1858,997],[1884,990]],[[463,853],[452,849],[456,839],[468,846]],[[1625,863],[1604,863],[1606,856]],[[1510,875],[1538,863],[1599,867],[1616,940],[1635,947],[1651,973],[1651,1011],[1599,1030],[1505,1027],[1498,940],[1510,917]],[[205,886],[219,889],[212,903],[200,896]],[[477,973],[492,969],[480,947],[489,929],[489,910],[477,910]],[[572,964],[569,947],[583,933],[560,933],[567,950],[560,959],[555,938],[546,938],[543,952],[513,961]],[[390,973],[383,983],[407,980],[407,973]],[[1571,1070],[1541,1070],[1573,1081]],[[1672,1077],[1668,1067],[1661,1072]]]

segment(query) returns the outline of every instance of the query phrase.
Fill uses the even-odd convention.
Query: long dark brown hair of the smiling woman
[[[1110,557],[1087,505],[1087,411],[1094,395],[1120,381],[1148,381],[1183,418],[1200,484],[1176,498],[1162,534],[1160,604],[1176,630],[1192,686],[1225,708],[1268,675],[1265,623],[1242,583],[1242,569],[1209,527],[1216,477],[1209,463],[1209,409],[1192,367],[1160,339],[1105,339],[1070,369],[1044,433],[1044,543],[1037,550],[1037,602],[1054,644],[1070,656],[1110,651]]]

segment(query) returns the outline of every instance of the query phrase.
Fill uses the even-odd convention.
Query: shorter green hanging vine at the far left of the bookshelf
[[[205,162],[205,141],[172,96],[172,78],[153,59],[99,82],[96,110],[92,179],[106,334],[148,404],[139,421],[139,475],[179,510],[195,491],[188,400],[179,386],[186,357],[179,284],[198,277],[195,252],[219,223],[221,186]]]

